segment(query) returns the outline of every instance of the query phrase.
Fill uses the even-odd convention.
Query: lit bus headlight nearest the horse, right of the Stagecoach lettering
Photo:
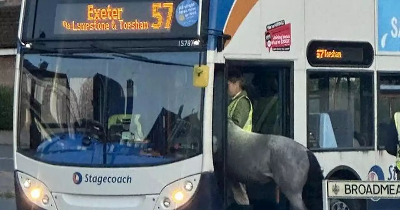
[[[199,180],[200,174],[196,174],[168,184],[158,196],[154,209],[173,210],[184,205],[196,192]]]

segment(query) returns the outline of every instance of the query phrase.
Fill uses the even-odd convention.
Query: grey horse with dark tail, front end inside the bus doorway
[[[232,186],[242,188],[239,183],[266,184],[273,180],[292,210],[322,209],[322,170],[314,154],[302,144],[284,136],[244,131],[231,120],[227,138],[226,172]],[[220,142],[214,144],[218,148],[214,152],[222,152]],[[248,200],[245,190],[233,191],[235,200]]]

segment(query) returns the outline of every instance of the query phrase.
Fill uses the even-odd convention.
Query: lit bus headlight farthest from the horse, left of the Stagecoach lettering
[[[18,182],[22,186],[22,192],[24,192],[25,197],[30,202],[47,210],[56,210],[53,197],[46,185],[38,179],[19,171],[17,172],[17,176]]]

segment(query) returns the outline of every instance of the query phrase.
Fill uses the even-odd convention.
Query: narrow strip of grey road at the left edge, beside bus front
[[[16,210],[14,200],[14,175],[12,146],[0,145],[0,209]]]

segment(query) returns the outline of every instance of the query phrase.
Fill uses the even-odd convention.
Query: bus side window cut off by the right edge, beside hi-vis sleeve
[[[400,112],[400,75],[378,73],[378,148],[383,149],[386,139],[392,139],[394,114]],[[397,135],[396,133],[394,135]]]

